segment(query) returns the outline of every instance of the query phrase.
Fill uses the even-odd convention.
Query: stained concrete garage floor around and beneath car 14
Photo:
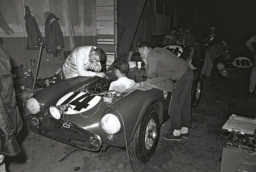
[[[106,152],[82,150],[27,130],[20,136],[22,154],[6,157],[10,172],[217,172],[227,132],[222,126],[232,114],[255,118],[256,95],[248,92],[248,78],[204,80],[200,104],[192,109],[190,138],[181,142],[161,138],[170,121],[161,127],[158,148],[146,164],[128,160],[126,149]]]

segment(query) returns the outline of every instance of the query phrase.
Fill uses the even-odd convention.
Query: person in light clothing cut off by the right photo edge
[[[253,93],[256,86],[256,35],[252,36],[249,40],[246,41],[246,46],[254,56],[254,64],[252,66],[249,85],[249,92]]]

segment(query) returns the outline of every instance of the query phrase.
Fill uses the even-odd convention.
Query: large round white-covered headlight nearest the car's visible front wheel
[[[104,115],[100,125],[107,134],[116,134],[121,128],[119,119],[113,114]]]

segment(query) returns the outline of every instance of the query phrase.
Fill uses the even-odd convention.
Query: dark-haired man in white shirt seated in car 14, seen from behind
[[[110,83],[108,90],[116,90],[117,92],[123,92],[127,88],[135,86],[134,80],[126,77],[128,69],[129,69],[128,62],[124,60],[114,61],[114,72],[115,72],[116,78],[118,79]]]

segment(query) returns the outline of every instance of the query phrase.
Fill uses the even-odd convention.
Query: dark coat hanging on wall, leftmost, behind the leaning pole
[[[25,6],[25,20],[26,20],[26,30],[28,34],[27,50],[38,50],[40,49],[40,44],[44,42],[44,38],[40,32],[36,18],[30,12],[28,6]]]

